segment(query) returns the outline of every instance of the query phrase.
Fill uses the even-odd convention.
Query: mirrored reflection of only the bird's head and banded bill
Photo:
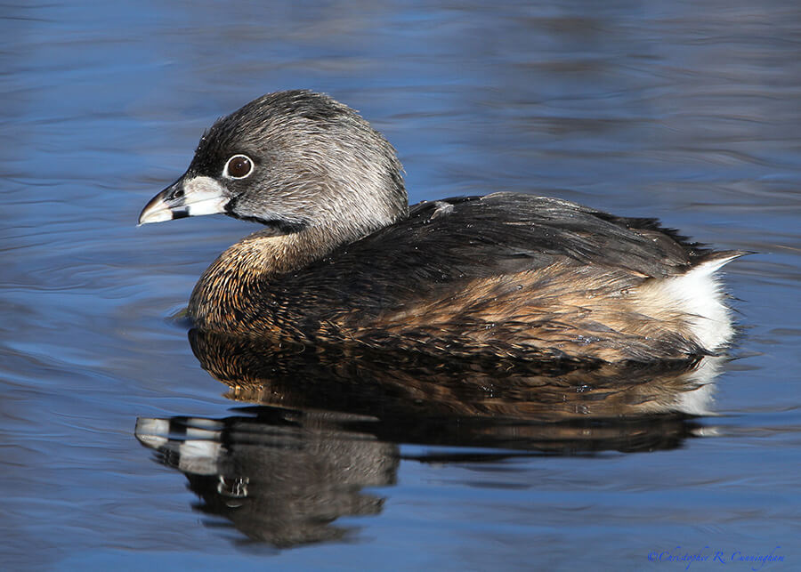
[[[158,460],[182,471],[198,509],[231,520],[248,538],[279,547],[336,540],[346,515],[381,511],[363,487],[391,485],[397,447],[338,428],[334,414],[272,407],[221,420],[144,419],[136,436]]]

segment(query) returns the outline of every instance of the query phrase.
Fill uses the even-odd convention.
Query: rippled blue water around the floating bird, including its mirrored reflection
[[[801,9],[750,4],[4,5],[4,567],[801,566]],[[556,195],[758,252],[737,359],[215,368],[171,317],[253,226],[136,216],[215,117],[297,87],[360,109],[413,202]],[[214,377],[253,367],[273,393]]]

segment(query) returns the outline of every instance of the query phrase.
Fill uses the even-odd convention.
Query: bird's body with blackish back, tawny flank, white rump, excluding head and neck
[[[266,320],[265,334],[291,330],[304,342],[686,359],[731,337],[713,272],[738,254],[555,198],[457,197],[415,205],[404,221],[265,279],[253,303],[282,322]]]

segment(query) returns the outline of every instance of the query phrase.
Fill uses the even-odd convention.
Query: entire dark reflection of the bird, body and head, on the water
[[[276,350],[195,330],[190,342],[228,397],[256,405],[142,418],[136,436],[186,475],[200,510],[279,547],[342,538],[336,519],[380,512],[380,491],[364,488],[392,485],[400,443],[444,446],[418,460],[473,463],[678,447],[699,434],[724,360],[587,369]]]

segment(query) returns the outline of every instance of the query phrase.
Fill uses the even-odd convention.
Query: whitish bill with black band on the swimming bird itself
[[[139,224],[225,213],[228,201],[226,190],[218,181],[211,177],[183,175],[150,199],[139,214]]]

